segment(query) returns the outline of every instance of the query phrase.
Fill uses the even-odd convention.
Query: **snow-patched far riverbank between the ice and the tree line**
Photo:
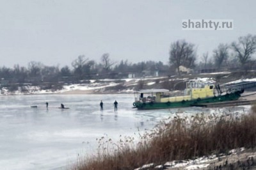
[[[190,78],[191,79],[191,78]],[[212,77],[193,78],[200,81],[214,82]],[[104,93],[133,93],[136,89],[152,88],[179,88],[176,84],[188,81],[188,77],[147,77],[143,79],[99,79],[90,80],[86,83],[63,84],[59,89],[44,89],[40,86],[26,84],[10,91],[6,87],[1,88],[0,95],[38,95],[38,94],[104,94]],[[225,84],[239,84],[241,82],[256,82],[252,79],[236,79]]]

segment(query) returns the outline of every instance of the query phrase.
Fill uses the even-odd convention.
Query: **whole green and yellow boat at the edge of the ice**
[[[227,102],[241,97],[243,89],[220,88],[213,82],[192,80],[186,82],[183,95],[170,93],[168,89],[142,89],[136,91],[133,106],[138,109],[168,109],[191,107],[205,103]]]

